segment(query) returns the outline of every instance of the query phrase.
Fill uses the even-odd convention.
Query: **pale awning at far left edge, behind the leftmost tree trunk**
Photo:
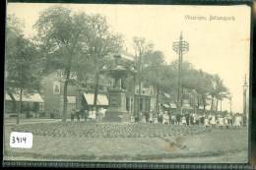
[[[15,101],[20,101],[20,95],[18,94],[13,94]],[[12,98],[10,97],[9,94],[5,94],[5,100],[12,100]],[[35,92],[34,94],[30,95],[30,96],[23,96],[22,97],[22,101],[25,102],[44,102],[43,99],[41,98],[40,94],[38,94],[37,92]]]

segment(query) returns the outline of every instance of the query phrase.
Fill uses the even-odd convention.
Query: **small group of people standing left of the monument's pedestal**
[[[79,109],[72,109],[71,121],[74,121],[76,117],[79,122],[81,118],[88,122],[96,122],[96,115],[101,115],[101,117],[104,117],[105,110],[106,109],[102,107],[100,107],[97,111],[96,107],[90,107],[89,110],[85,109],[84,111],[80,111]]]

